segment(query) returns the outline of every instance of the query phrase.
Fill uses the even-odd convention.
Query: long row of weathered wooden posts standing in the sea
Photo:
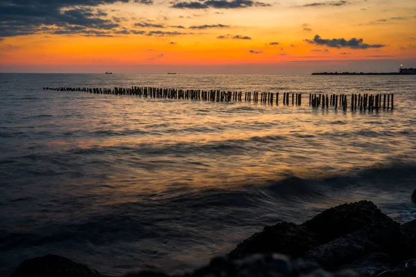
[[[131,87],[121,88],[115,87],[114,89],[101,89],[101,88],[86,88],[86,87],[44,87],[43,89],[54,91],[86,91],[89,93],[97,94],[114,94],[114,95],[133,95],[142,96],[145,98],[168,98],[168,99],[191,99],[191,100],[207,100],[217,102],[230,102],[242,101],[244,94],[244,101],[246,102],[263,102],[263,103],[276,103],[279,105],[279,92],[262,92],[259,91],[220,91],[210,90],[204,91],[200,89],[161,89],[157,87]],[[312,107],[338,107],[347,109],[351,107],[352,110],[378,110],[378,109],[393,109],[394,106],[394,94],[375,94],[368,95],[368,93],[351,94],[350,101],[348,101],[346,94],[340,94],[339,97],[336,94],[322,94],[322,93],[309,93],[309,105]],[[302,93],[283,93],[284,105],[302,105]]]

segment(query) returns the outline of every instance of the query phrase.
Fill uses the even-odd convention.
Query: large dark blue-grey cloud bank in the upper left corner
[[[109,35],[103,30],[119,28],[117,19],[103,19],[107,13],[96,9],[103,4],[129,0],[1,0],[0,37],[37,32]],[[149,0],[135,0],[149,5]]]

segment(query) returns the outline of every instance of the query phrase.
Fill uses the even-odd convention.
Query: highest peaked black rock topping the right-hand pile
[[[323,211],[302,224],[319,235],[321,242],[329,242],[374,222],[391,221],[370,201],[343,204]]]

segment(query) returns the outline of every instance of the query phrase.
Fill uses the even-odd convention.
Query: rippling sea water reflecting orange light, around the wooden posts
[[[114,276],[187,271],[281,221],[369,199],[415,218],[416,76],[0,74],[0,275],[56,253]],[[304,104],[42,87],[304,93]],[[394,111],[306,93],[395,93]]]

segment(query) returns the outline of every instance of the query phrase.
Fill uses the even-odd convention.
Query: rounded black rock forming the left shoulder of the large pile
[[[275,226],[264,227],[260,233],[254,233],[229,253],[229,256],[241,258],[250,253],[274,252],[299,257],[318,244],[315,234],[304,226],[281,222]]]

